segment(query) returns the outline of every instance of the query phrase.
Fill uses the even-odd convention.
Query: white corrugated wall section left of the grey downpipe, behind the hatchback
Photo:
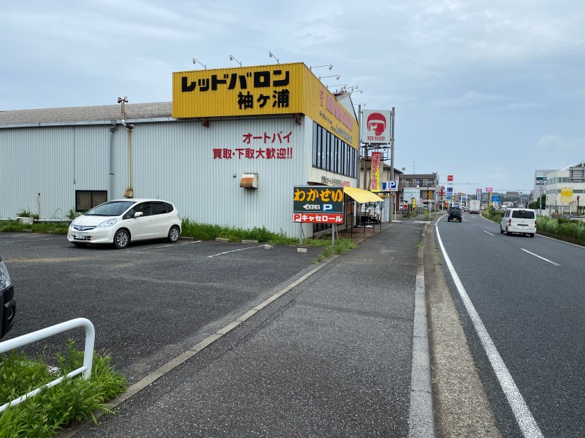
[[[107,127],[0,129],[0,158],[0,218],[37,213],[40,193],[40,218],[63,219],[76,188],[107,189]]]

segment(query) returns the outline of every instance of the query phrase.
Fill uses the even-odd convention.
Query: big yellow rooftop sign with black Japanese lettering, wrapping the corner
[[[302,113],[359,147],[359,126],[304,63],[173,72],[173,117]]]

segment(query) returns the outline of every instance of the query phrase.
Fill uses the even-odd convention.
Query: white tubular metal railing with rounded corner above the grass
[[[95,342],[95,329],[93,328],[93,324],[86,318],[75,318],[71,321],[65,321],[65,323],[52,325],[51,327],[47,327],[41,330],[37,330],[36,332],[23,334],[22,336],[18,336],[15,339],[10,339],[9,341],[0,342],[0,354],[3,352],[7,352],[10,350],[14,350],[15,348],[22,347],[27,343],[32,343],[36,341],[40,341],[41,339],[48,338],[49,336],[53,336],[54,334],[59,334],[65,332],[67,330],[71,330],[76,327],[84,327],[86,330],[86,342],[84,348],[84,364],[81,368],[77,368],[74,371],[71,371],[68,375],[64,375],[63,377],[53,380],[40,388],[35,389],[34,391],[29,392],[29,394],[24,394],[19,398],[15,398],[10,403],[6,403],[5,405],[0,406],[0,413],[4,411],[8,406],[18,405],[22,403],[29,397],[35,396],[38,394],[42,389],[45,388],[52,388],[56,384],[63,382],[65,378],[71,378],[74,375],[81,374],[81,377],[84,379],[88,379],[89,375],[91,374],[91,364],[93,362],[93,343]]]

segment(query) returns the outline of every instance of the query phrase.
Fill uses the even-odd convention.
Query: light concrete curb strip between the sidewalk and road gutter
[[[424,243],[425,224],[421,235]],[[412,373],[410,378],[409,438],[435,437],[435,417],[432,412],[432,384],[424,273],[424,245],[419,248],[416,261],[414,290],[414,323],[412,325]]]

